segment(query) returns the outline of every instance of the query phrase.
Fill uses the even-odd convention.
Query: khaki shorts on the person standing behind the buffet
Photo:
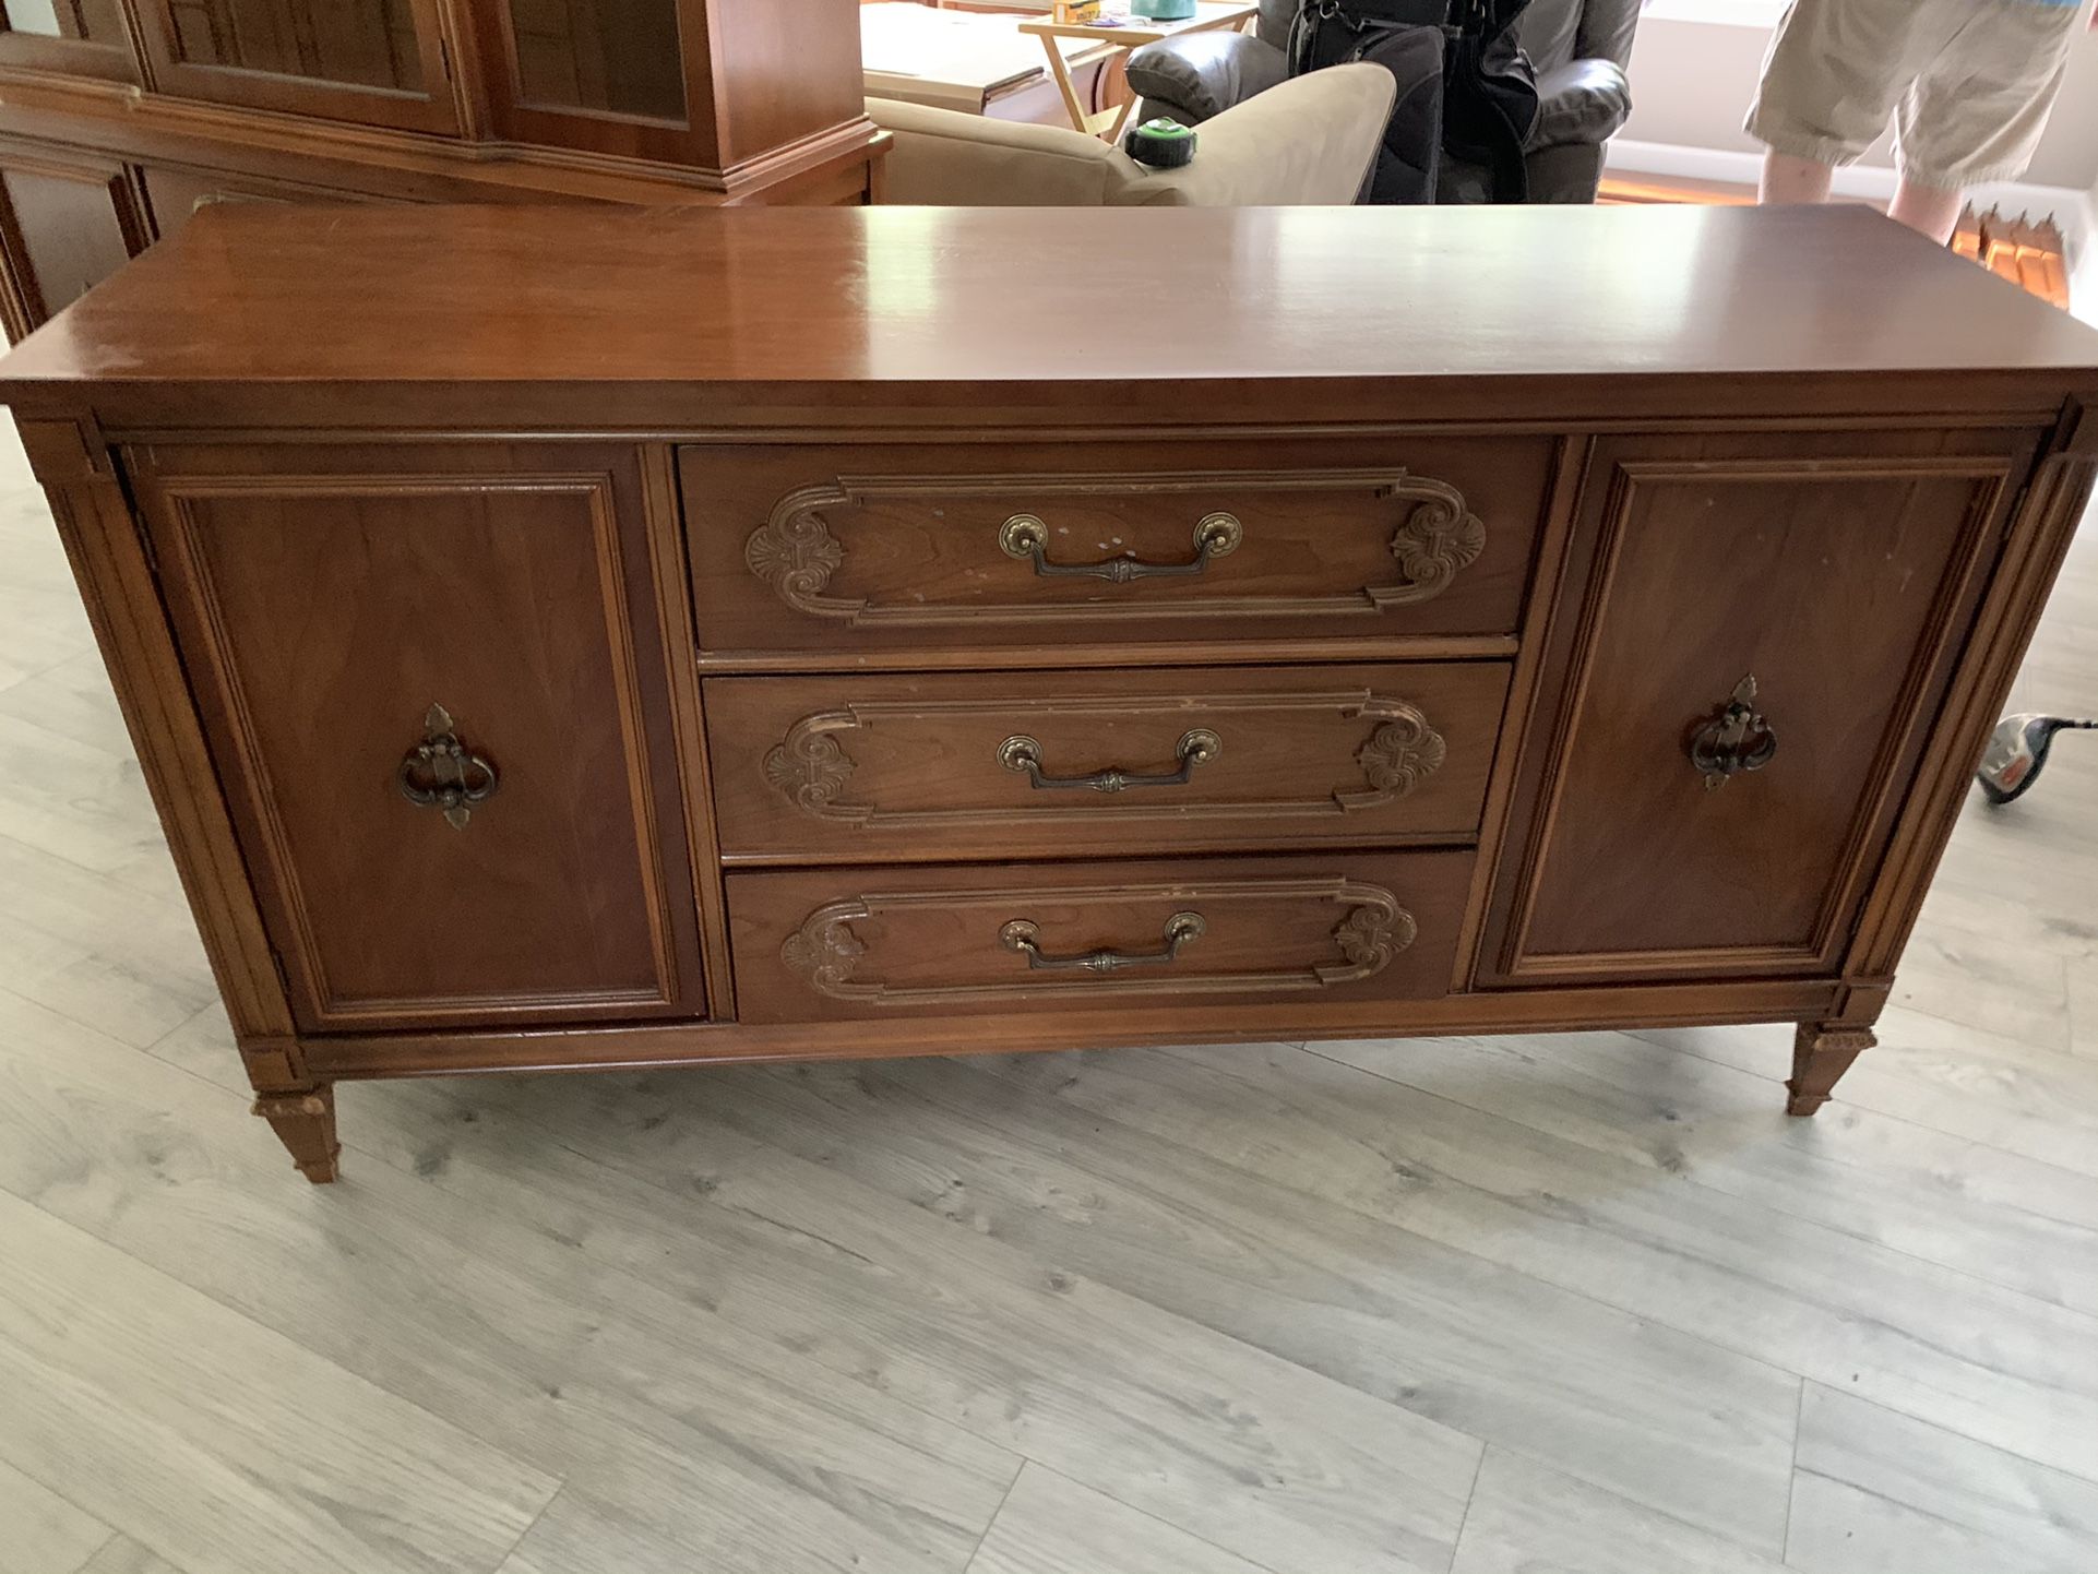
[[[1777,153],[1848,164],[1894,115],[1915,185],[2016,180],[2060,92],[2077,15],[2033,0],[1792,0],[1748,132]]]

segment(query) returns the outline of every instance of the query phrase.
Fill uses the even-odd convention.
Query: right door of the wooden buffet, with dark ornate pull
[[[1481,978],[1834,972],[2029,455],[1599,445]]]

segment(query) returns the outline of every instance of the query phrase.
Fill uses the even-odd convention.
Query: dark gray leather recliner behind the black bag
[[[1250,34],[1187,34],[1129,57],[1139,118],[1171,115],[1198,126],[1288,76],[1290,21],[1299,0],[1261,0]],[[1632,113],[1626,69],[1639,0],[1532,0],[1517,38],[1538,71],[1538,124],[1525,155],[1529,201],[1594,201],[1603,143]],[[1443,159],[1439,201],[1483,201],[1485,172]]]

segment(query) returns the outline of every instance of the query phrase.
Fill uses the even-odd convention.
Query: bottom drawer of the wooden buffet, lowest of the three
[[[1471,852],[730,875],[745,1022],[1443,995]]]

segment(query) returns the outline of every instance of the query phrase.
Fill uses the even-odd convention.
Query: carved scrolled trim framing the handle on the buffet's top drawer
[[[952,607],[923,602],[871,602],[862,596],[829,594],[831,577],[845,565],[845,546],[822,516],[827,508],[854,508],[873,499],[999,499],[1175,495],[1234,491],[1368,491],[1393,502],[1391,533],[1395,579],[1366,583],[1326,596],[1175,596],[1106,600],[1007,600]],[[997,504],[992,512],[1003,508]],[[997,546],[999,520],[984,520],[986,562],[1005,560]],[[1255,539],[1259,523],[1246,525]],[[992,617],[1005,623],[1062,623],[1156,617],[1360,617],[1393,607],[1433,600],[1485,552],[1485,523],[1464,504],[1464,493],[1448,481],[1414,476],[1406,470],[1232,470],[1232,472],[1078,472],[1078,474],[988,474],[988,476],[837,476],[797,487],[772,506],[772,516],[745,541],[743,562],[797,613],[839,619],[850,628],[946,628]]]

